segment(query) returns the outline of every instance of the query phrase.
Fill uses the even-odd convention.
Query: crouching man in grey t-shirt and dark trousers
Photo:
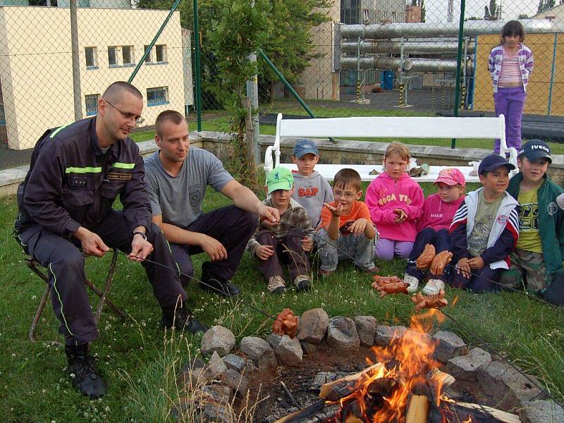
[[[223,168],[214,154],[190,147],[188,124],[177,111],[163,111],[155,122],[159,151],[145,159],[153,222],[171,243],[184,274],[194,274],[190,256],[205,252],[203,289],[224,296],[238,295],[231,283],[247,241],[257,227],[257,215],[276,224],[278,210],[267,207]],[[202,213],[207,185],[233,200],[232,205]],[[189,281],[182,276],[185,286]]]

